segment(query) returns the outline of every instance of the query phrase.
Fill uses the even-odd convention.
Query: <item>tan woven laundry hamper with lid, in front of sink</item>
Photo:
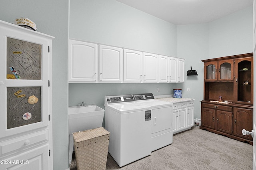
[[[103,127],[73,133],[78,170],[105,170],[110,132]]]

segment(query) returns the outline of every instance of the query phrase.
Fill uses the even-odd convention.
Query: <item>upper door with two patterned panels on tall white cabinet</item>
[[[0,138],[48,128],[52,38],[0,23]]]

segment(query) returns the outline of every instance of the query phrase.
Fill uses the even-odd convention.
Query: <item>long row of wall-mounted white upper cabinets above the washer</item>
[[[69,40],[70,83],[184,82],[184,59]]]

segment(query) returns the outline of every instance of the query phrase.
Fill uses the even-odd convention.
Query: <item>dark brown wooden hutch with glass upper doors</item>
[[[252,145],[252,136],[242,135],[242,129],[253,129],[253,53],[202,62],[204,100],[200,129]],[[220,96],[223,102],[217,102]]]

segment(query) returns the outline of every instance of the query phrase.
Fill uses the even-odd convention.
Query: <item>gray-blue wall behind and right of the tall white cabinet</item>
[[[0,20],[26,17],[39,32],[55,37],[52,52],[53,166],[68,169],[68,0],[1,0]],[[0,47],[3,48],[3,47]],[[1,56],[3,57],[3,56]]]

